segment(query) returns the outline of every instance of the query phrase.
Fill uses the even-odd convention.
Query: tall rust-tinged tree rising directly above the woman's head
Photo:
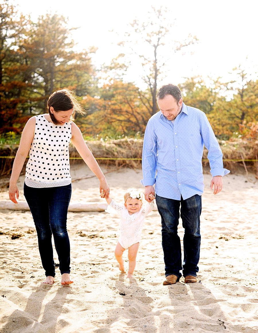
[[[26,53],[34,68],[32,85],[34,92],[42,97],[38,107],[46,110],[48,97],[53,91],[64,86],[77,90],[79,96],[86,95],[92,86],[90,53],[95,48],[74,51],[75,43],[67,19],[63,15],[48,13],[40,16],[37,22],[31,22],[20,49]]]

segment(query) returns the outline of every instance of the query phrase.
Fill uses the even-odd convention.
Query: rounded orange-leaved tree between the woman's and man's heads
[[[87,96],[82,100],[84,107],[90,110],[86,122],[80,124],[85,135],[101,133],[116,137],[145,131],[149,112],[134,84],[117,80],[105,84],[99,95],[99,99]]]

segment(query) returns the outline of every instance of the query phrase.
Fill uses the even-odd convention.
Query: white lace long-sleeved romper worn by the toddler
[[[110,202],[106,211],[112,213],[113,209],[121,214],[120,237],[118,239],[120,245],[127,249],[135,243],[140,243],[145,216],[154,209],[154,202],[147,202],[146,206],[142,206],[138,212],[132,215],[129,214],[124,204],[114,200]]]

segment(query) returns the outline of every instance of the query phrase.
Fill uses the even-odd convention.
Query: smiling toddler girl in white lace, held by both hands
[[[101,196],[104,196],[102,193]],[[119,269],[124,272],[122,255],[125,249],[128,248],[129,269],[127,277],[133,277],[136,265],[136,255],[141,240],[144,219],[154,209],[153,194],[149,196],[152,202],[147,202],[143,206],[143,192],[140,192],[135,187],[130,187],[124,194],[124,204],[120,204],[112,200],[109,196],[106,199],[108,203],[107,212],[110,213],[114,209],[120,212],[120,237],[115,248],[115,259],[119,263]]]

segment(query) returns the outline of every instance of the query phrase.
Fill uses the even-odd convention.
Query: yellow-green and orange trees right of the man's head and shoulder
[[[243,138],[257,139],[258,80],[248,79],[240,66],[233,70],[236,80],[222,83],[202,77],[193,77],[180,85],[187,105],[204,111],[215,135],[230,139],[234,133]],[[230,96],[230,97],[229,97]]]

